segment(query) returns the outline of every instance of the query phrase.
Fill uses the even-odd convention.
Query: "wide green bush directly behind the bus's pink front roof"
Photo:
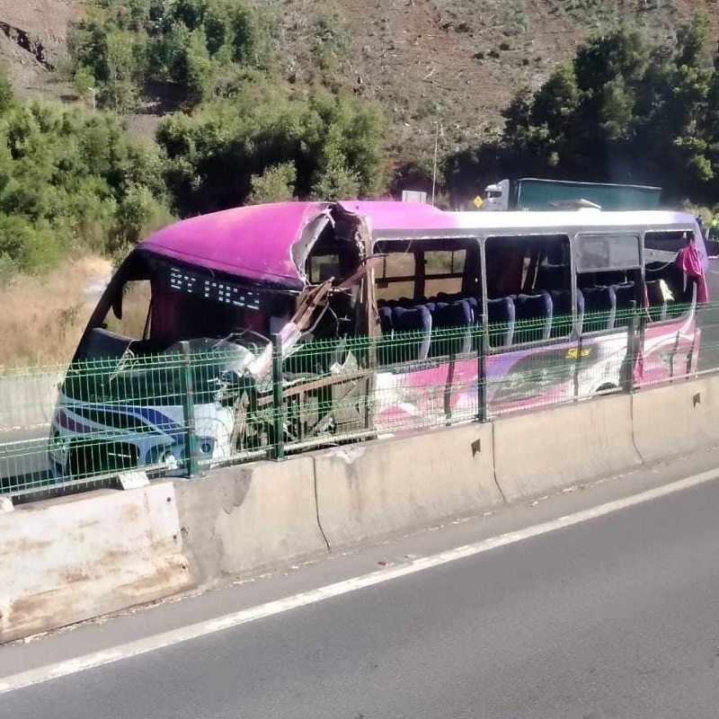
[[[290,186],[298,198],[324,191],[376,196],[386,187],[384,129],[381,112],[366,101],[325,91],[293,98],[252,83],[191,116],[167,117],[157,139],[168,156],[164,176],[175,209],[188,216],[265,192],[284,196]],[[296,173],[292,182],[287,164]]]

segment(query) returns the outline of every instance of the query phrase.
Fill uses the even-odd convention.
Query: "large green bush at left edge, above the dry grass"
[[[130,142],[104,113],[0,103],[0,274],[111,253],[166,223],[162,167],[156,146]]]

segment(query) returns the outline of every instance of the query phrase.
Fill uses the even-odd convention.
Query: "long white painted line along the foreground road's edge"
[[[499,537],[484,539],[476,544],[459,546],[447,552],[442,552],[439,555],[420,557],[408,564],[400,564],[378,572],[354,577],[350,580],[338,581],[316,590],[310,590],[292,597],[286,597],[285,599],[267,602],[257,607],[243,609],[232,614],[227,614],[224,617],[217,617],[216,619],[209,619],[208,621],[198,622],[190,626],[183,626],[179,629],[173,629],[172,631],[155,636],[148,636],[145,639],[139,639],[135,642],[121,644],[111,650],[92,652],[69,661],[61,661],[57,664],[40,667],[39,669],[22,671],[18,674],[0,679],[0,694],[31,687],[35,684],[49,681],[50,679],[67,677],[84,670],[95,669],[96,667],[111,664],[114,661],[130,659],[140,654],[146,654],[147,652],[155,652],[158,649],[173,646],[173,644],[188,642],[191,639],[197,639],[201,636],[211,635],[216,632],[231,629],[235,626],[248,624],[257,619],[272,617],[299,607],[306,607],[307,605],[324,601],[324,599],[340,597],[343,594],[349,594],[351,591],[373,587],[377,584],[399,579],[409,574],[423,572],[424,570],[438,567],[442,564],[456,562],[458,559],[466,559],[466,557],[480,555],[501,546],[508,546],[524,539],[539,537],[540,535],[554,532],[557,529],[573,527],[573,525],[580,524],[581,522],[604,517],[619,510],[634,507],[636,504],[651,502],[652,500],[666,497],[670,494],[697,486],[698,484],[704,484],[717,479],[719,479],[719,472],[717,471],[693,475],[678,482],[673,482],[672,484],[666,484],[662,487],[635,494],[632,497],[600,504],[599,507],[593,507],[590,510],[578,511],[574,514],[560,517],[559,519],[542,522],[534,527],[519,529],[514,532],[502,534]]]

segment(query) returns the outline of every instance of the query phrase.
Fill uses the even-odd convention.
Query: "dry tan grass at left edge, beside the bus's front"
[[[58,366],[71,359],[96,301],[84,288],[110,271],[110,262],[84,258],[0,292],[0,368]]]

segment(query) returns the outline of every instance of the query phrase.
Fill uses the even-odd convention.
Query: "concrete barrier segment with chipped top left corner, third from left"
[[[501,504],[492,432],[469,424],[316,453],[317,514],[330,546]]]

